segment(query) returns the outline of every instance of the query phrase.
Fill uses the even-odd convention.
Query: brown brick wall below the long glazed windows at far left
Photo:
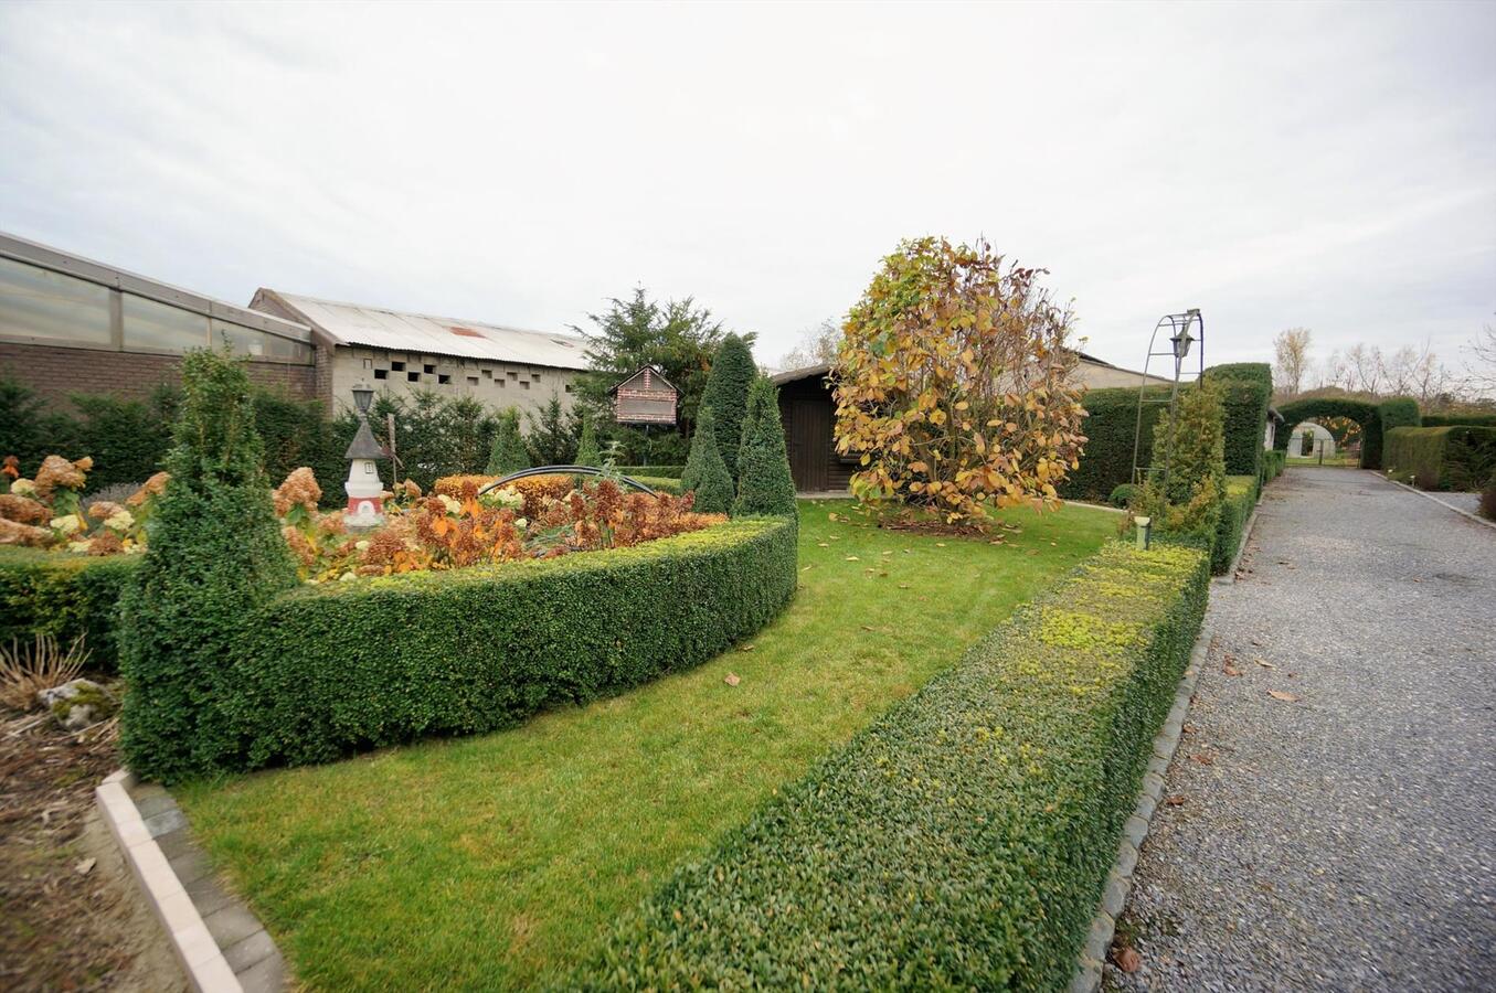
[[[69,393],[147,398],[160,383],[180,381],[181,357],[93,348],[57,348],[0,341],[0,375],[36,390],[48,404]],[[283,362],[250,362],[250,378],[281,386],[292,396],[317,399],[317,369]]]

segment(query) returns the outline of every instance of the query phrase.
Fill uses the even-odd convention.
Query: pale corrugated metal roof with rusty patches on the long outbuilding
[[[280,301],[308,325],[344,345],[545,365],[558,369],[586,368],[586,339],[576,335],[341,304],[266,289],[260,289],[256,298],[260,295]]]

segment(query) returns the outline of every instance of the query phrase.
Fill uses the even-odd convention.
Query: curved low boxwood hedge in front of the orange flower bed
[[[221,706],[238,767],[473,734],[691,668],[794,594],[796,523],[302,586],[259,610]]]

